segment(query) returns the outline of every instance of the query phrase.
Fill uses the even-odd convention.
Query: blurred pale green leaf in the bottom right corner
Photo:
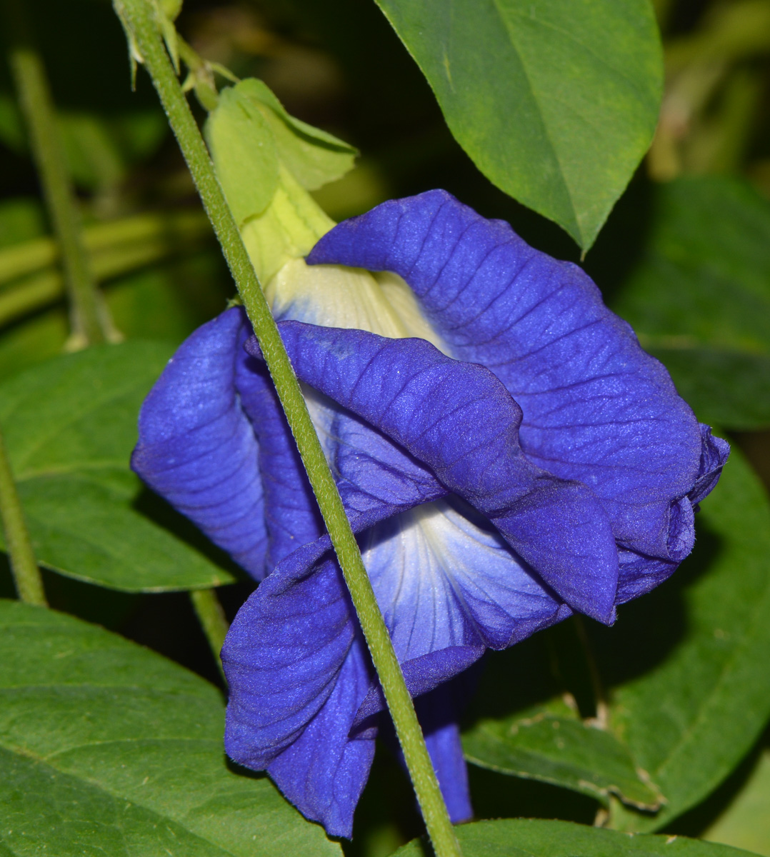
[[[770,857],[770,750],[761,754],[743,788],[703,838]]]

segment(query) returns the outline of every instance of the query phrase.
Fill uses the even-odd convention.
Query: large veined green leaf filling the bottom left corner
[[[0,698],[3,857],[340,854],[227,764],[214,686],[116,634],[0,602]]]

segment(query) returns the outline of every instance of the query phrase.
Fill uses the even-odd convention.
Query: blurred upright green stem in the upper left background
[[[80,213],[69,183],[45,68],[33,45],[27,0],[5,0],[10,34],[9,64],[27,120],[51,223],[62,249],[73,329],[86,343],[105,342],[96,282],[80,234]]]

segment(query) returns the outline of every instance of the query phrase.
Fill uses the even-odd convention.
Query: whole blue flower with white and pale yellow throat
[[[454,677],[669,577],[728,446],[580,268],[443,191],[336,226],[307,261],[271,286],[280,332],[459,821]],[[324,291],[344,276],[346,297]],[[362,316],[366,289],[388,303]],[[382,693],[250,333],[229,309],[181,346],[133,466],[264,578],[222,650],[227,752],[350,836]]]

